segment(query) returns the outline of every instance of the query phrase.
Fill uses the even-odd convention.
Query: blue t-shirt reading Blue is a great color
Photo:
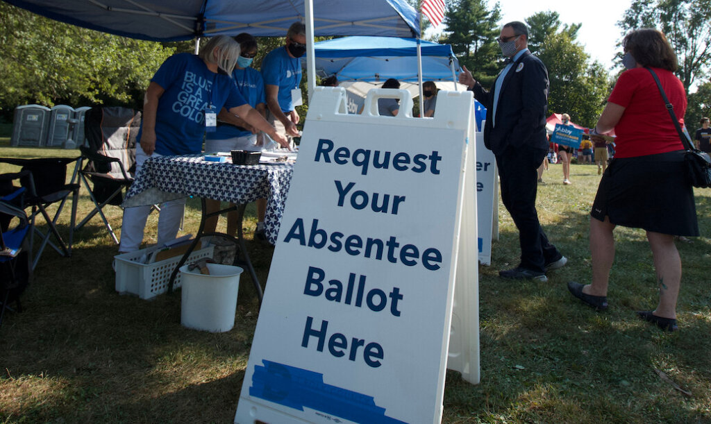
[[[215,113],[246,104],[228,75],[211,72],[197,55],[178,53],[163,62],[151,82],[165,92],[156,111],[156,153],[164,156],[200,153],[205,135],[205,109]],[[139,140],[143,126],[139,131]]]

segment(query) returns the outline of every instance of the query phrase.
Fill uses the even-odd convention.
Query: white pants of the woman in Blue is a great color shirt
[[[153,156],[161,156],[153,153]],[[149,156],[143,151],[141,146],[136,144],[136,175]],[[171,241],[178,235],[178,228],[185,211],[185,198],[165,202],[161,206],[158,219],[158,245],[162,246],[166,241]],[[124,219],[121,224],[121,244],[120,252],[137,251],[143,241],[143,232],[146,228],[146,219],[151,213],[151,205],[127,207],[124,209]]]

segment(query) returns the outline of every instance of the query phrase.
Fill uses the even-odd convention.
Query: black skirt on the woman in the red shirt
[[[675,236],[698,236],[693,187],[683,151],[614,158],[590,215],[600,221]]]

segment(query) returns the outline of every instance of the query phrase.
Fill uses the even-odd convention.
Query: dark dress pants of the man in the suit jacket
[[[518,228],[521,248],[520,267],[545,272],[545,264],[560,259],[538,222],[535,198],[538,189],[538,166],[545,158],[545,149],[509,146],[496,155],[501,178],[501,200]]]

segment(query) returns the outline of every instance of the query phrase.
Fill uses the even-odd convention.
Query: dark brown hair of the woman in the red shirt
[[[674,50],[664,34],[654,28],[632,31],[622,40],[622,47],[642,66],[661,67],[671,72],[678,68]]]

